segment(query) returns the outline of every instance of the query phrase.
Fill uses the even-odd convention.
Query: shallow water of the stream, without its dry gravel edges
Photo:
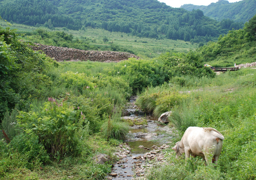
[[[130,116],[136,118],[145,118],[145,113],[138,110],[138,107],[134,104],[137,97],[132,97],[130,103],[128,103],[126,111],[123,112],[123,116]],[[117,162],[112,168],[111,173],[117,173],[117,176],[113,176],[113,180],[130,180],[134,176],[132,168],[134,163],[137,161],[132,157],[143,156],[146,152],[152,151],[153,145],[160,147],[163,143],[168,142],[171,136],[167,133],[161,134],[162,125],[157,123],[158,118],[152,118],[147,116],[147,125],[133,126],[130,128],[130,133],[128,133],[127,143],[131,148],[131,154],[123,158],[120,162]],[[168,128],[168,127],[167,127]],[[143,145],[144,148],[139,148],[138,146]]]

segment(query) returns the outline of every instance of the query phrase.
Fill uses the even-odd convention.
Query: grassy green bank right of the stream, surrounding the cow
[[[171,164],[152,168],[148,179],[255,179],[255,73],[248,68],[211,80],[183,77],[184,85],[172,78],[145,89],[139,106],[158,117],[172,111],[169,125],[178,130],[173,146],[189,126],[214,127],[225,137],[217,167],[205,167],[201,158],[185,163],[170,149],[166,157]]]

